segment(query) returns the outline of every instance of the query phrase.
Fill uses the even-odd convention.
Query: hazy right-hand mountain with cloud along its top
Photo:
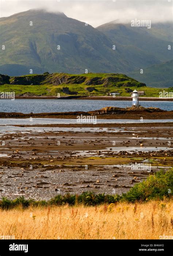
[[[135,56],[141,54],[141,64],[133,72],[126,74],[146,83],[151,87],[170,87],[172,86],[172,36],[173,24],[166,23],[151,23],[151,28],[147,27],[131,27],[131,23],[121,24],[119,20],[109,22],[97,27],[97,30],[104,33],[113,42],[122,43],[124,46],[124,54],[131,55],[132,60]],[[168,46],[171,49],[168,50]],[[129,51],[129,49],[131,49]],[[145,58],[153,58],[157,63],[150,63],[142,68],[142,63]],[[143,74],[140,69],[143,69]]]

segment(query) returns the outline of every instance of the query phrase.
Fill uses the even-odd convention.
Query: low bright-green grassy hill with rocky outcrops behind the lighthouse
[[[69,93],[62,88],[68,87]],[[86,90],[93,87],[93,91]],[[146,87],[144,83],[115,73],[88,74],[33,74],[26,76],[0,75],[0,91],[14,91],[16,96],[106,96],[108,92],[119,92],[120,96],[130,96],[126,88],[145,91],[145,97],[158,97],[161,89]],[[166,91],[171,91],[167,89]]]

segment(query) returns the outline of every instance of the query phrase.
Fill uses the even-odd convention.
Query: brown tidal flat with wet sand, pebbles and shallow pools
[[[0,198],[23,195],[50,199],[57,194],[82,191],[122,194],[162,167],[166,171],[172,166],[172,126],[173,123],[3,126]],[[135,163],[146,167],[150,164],[151,169],[134,171],[131,164]]]

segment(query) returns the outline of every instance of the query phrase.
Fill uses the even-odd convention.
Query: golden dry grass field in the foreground
[[[159,239],[172,236],[173,201],[0,210],[0,235],[15,239]]]

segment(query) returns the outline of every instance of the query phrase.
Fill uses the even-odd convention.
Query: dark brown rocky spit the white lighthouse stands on
[[[0,118],[60,118],[76,119],[84,116],[96,116],[97,119],[172,119],[173,110],[166,111],[159,108],[144,107],[104,107],[93,111],[74,111],[74,112],[42,112],[42,113],[21,113],[21,112],[0,112]],[[83,118],[83,117],[82,117]],[[87,123],[87,122],[85,122]]]

